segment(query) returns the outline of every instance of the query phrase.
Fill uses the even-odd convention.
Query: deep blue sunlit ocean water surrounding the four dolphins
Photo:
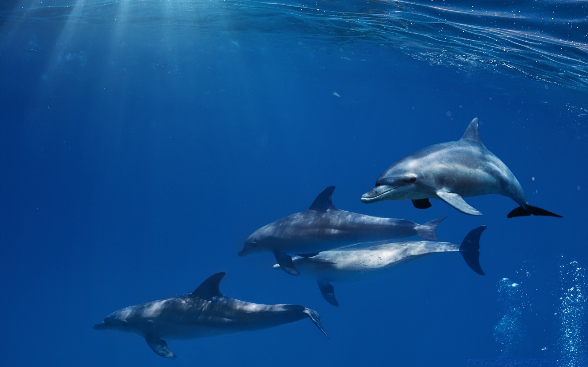
[[[466,366],[588,358],[588,5],[584,1],[93,1],[0,4],[2,366]],[[397,159],[482,142],[529,203],[362,204]],[[257,228],[335,206],[487,225],[485,276],[433,254],[334,284],[238,257]],[[92,329],[116,309],[227,275],[228,297],[322,315],[224,338]],[[506,280],[505,280],[506,279]],[[516,284],[516,285],[514,285]]]

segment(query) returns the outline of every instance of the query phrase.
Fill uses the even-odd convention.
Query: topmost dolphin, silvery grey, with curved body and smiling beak
[[[477,117],[462,139],[426,147],[393,163],[377,179],[376,187],[363,194],[362,201],[410,199],[416,208],[426,209],[431,206],[429,198],[435,198],[462,213],[481,216],[463,198],[486,194],[507,196],[519,204],[508,218],[562,217],[527,203],[515,175],[482,144]]]

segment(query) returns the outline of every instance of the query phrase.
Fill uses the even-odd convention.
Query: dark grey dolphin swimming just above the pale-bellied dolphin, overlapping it
[[[311,257],[333,248],[416,234],[425,240],[436,240],[437,225],[447,218],[445,216],[425,224],[416,224],[409,220],[351,213],[333,206],[333,190],[335,186],[325,188],[308,210],[290,214],[253,232],[245,241],[239,256],[272,252],[285,272],[299,275],[288,254]]]

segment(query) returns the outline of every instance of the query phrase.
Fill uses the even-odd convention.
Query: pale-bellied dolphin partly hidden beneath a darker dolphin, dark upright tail
[[[316,280],[327,302],[339,306],[330,282],[363,280],[435,252],[459,252],[473,271],[484,275],[478,250],[480,235],[485,229],[485,225],[474,228],[461,245],[434,241],[393,242],[323,251],[313,257],[295,257],[292,261],[303,275]],[[279,267],[279,264],[273,265],[275,269]]]

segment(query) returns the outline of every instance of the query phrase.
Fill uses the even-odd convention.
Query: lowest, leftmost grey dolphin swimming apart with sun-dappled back
[[[233,335],[307,317],[327,335],[320,324],[319,314],[310,308],[289,304],[260,305],[225,297],[219,291],[219,282],[224,276],[224,272],[213,274],[190,295],[119,309],[92,327],[142,336],[153,352],[165,358],[176,356],[163,338]]]

